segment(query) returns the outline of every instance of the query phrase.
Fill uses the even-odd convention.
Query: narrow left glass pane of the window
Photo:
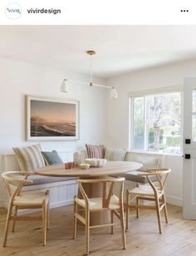
[[[137,97],[133,100],[133,147],[135,150],[144,150],[145,147],[145,98]]]

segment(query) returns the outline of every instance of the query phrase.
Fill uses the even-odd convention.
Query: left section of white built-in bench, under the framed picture
[[[61,155],[63,161],[71,161],[73,157],[73,153],[71,152],[60,152],[59,155]],[[20,170],[20,167],[17,164],[15,155],[2,155],[1,172],[17,170]],[[2,178],[0,179],[0,185],[2,186],[2,206],[7,208],[9,197],[5,185],[2,183]],[[33,180],[32,185],[27,185],[22,190],[50,190],[50,208],[72,204],[73,197],[77,193],[76,177],[56,178],[31,175],[29,179]]]

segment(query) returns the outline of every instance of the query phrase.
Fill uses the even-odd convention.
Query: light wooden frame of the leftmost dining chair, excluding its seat
[[[23,175],[24,179],[15,178],[14,175]],[[46,191],[46,196],[48,199],[43,199],[42,204],[28,204],[27,202],[22,203],[22,205],[17,205],[14,203],[14,199],[21,195],[23,185],[31,185],[32,180],[27,180],[28,176],[35,175],[34,173],[25,171],[7,171],[2,173],[2,180],[4,181],[8,194],[10,196],[9,205],[7,210],[7,220],[5,227],[5,234],[3,239],[3,247],[7,245],[7,234],[9,223],[12,220],[12,232],[15,231],[15,225],[17,220],[31,220],[37,221],[42,220],[42,244],[47,244],[47,229],[49,229],[49,190]],[[14,185],[14,190],[12,191],[11,185]],[[25,192],[23,192],[25,194]],[[13,212],[14,209],[14,213]],[[42,209],[42,216],[17,216],[18,209]]]

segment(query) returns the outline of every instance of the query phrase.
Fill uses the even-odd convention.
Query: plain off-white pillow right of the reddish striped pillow
[[[124,161],[126,150],[112,149],[110,147],[105,148],[105,159],[109,161]]]

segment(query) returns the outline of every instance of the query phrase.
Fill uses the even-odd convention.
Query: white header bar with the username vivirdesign
[[[21,15],[12,13],[12,2]],[[16,5],[15,5],[16,7]],[[15,8],[14,7],[14,8]],[[60,12],[57,12],[60,10]],[[196,24],[195,0],[1,0],[0,24]],[[12,17],[17,17],[12,19]]]

